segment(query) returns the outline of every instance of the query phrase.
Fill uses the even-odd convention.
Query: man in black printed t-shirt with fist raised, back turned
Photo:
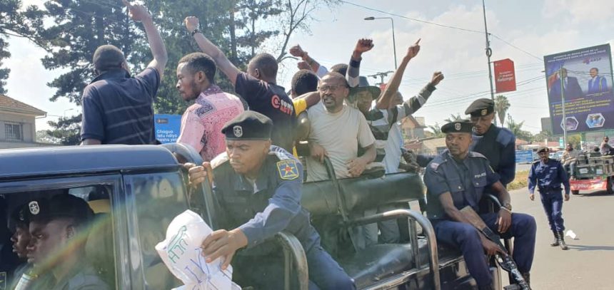
[[[273,120],[273,145],[292,151],[296,114],[286,89],[277,85],[277,60],[268,53],[260,53],[249,61],[247,73],[239,71],[223,52],[209,41],[198,29],[198,19],[185,19],[186,29],[191,33],[203,53],[213,58],[218,68],[235,86],[249,105],[249,110],[266,115]]]

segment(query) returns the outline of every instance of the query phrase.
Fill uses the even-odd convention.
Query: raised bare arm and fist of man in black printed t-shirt
[[[236,66],[231,63],[230,60],[224,55],[220,48],[215,46],[215,44],[211,43],[201,31],[198,31],[198,18],[194,16],[186,17],[183,21],[186,24],[186,29],[192,34],[194,40],[198,44],[198,47],[201,48],[203,53],[208,54],[213,58],[213,61],[216,61],[216,64],[220,71],[228,77],[231,83],[236,83],[236,76],[238,76],[241,71],[236,68]]]

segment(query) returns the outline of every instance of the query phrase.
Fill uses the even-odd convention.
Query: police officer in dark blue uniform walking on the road
[[[557,160],[548,158],[548,147],[538,149],[540,160],[531,165],[528,177],[530,199],[535,200],[535,187],[537,187],[545,215],[548,217],[550,230],[554,235],[554,241],[550,246],[560,246],[568,249],[563,238],[563,192],[560,185],[565,187],[565,202],[569,200],[569,177],[563,165]]]

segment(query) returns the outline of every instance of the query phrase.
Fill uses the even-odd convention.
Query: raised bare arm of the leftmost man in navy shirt
[[[141,21],[141,23],[143,23],[145,34],[149,41],[149,49],[151,49],[151,54],[154,55],[154,60],[151,61],[147,67],[156,68],[161,79],[164,68],[166,67],[166,62],[168,61],[168,54],[166,53],[166,47],[164,47],[160,32],[156,29],[154,21],[151,19],[151,15],[145,6],[140,4],[132,5],[126,0],[123,0],[123,2],[124,5],[128,7],[128,11],[130,11],[130,18],[134,21]]]

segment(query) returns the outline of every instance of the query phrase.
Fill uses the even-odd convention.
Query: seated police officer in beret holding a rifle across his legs
[[[448,149],[426,167],[427,217],[431,219],[438,242],[463,252],[469,273],[479,289],[492,289],[493,277],[484,252],[495,254],[501,250],[479,234],[459,209],[470,206],[478,212],[478,202],[487,188],[498,194],[502,204],[510,205],[510,195],[484,155],[469,150],[472,130],[473,124],[468,120],[441,127],[441,132],[446,133]],[[480,217],[500,237],[514,237],[513,259],[529,281],[535,252],[535,219],[528,214],[512,213],[511,206],[501,207],[498,213],[480,214]]]

